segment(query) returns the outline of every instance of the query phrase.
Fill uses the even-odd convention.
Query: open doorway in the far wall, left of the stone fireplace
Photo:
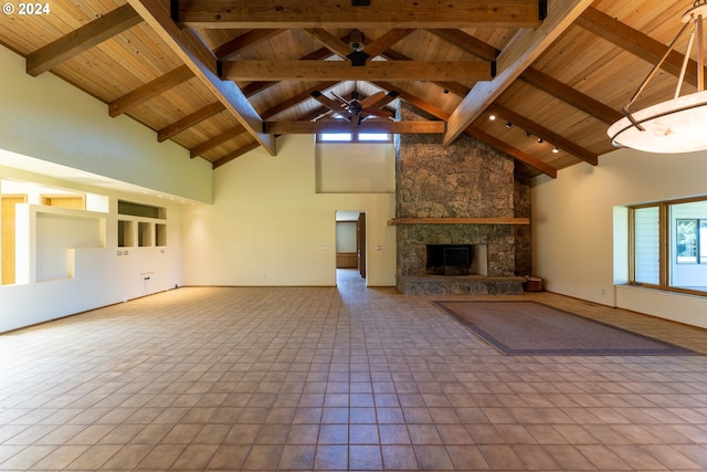
[[[337,210],[336,212],[336,271],[350,280],[366,279],[366,212]]]

